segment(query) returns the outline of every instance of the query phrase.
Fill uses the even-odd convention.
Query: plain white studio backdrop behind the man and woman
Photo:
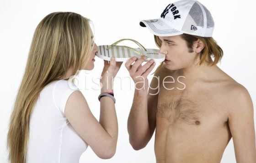
[[[255,1],[201,2],[212,13],[215,21],[213,37],[224,50],[219,67],[249,90],[255,105]],[[153,35],[146,28],[140,27],[139,21],[159,18],[169,3],[169,0],[0,0],[0,163],[7,163],[6,133],[11,108],[27,62],[33,32],[44,16],[54,11],[73,11],[90,18],[94,24],[95,41],[98,45],[109,45],[121,38],[133,38],[144,47],[156,48]],[[80,84],[84,83],[85,73],[87,79],[100,77],[102,68],[103,61],[96,58],[92,71],[81,72]],[[124,65],[117,76],[128,76]],[[115,81],[119,126],[115,156],[102,160],[97,158],[89,147],[82,154],[80,163],[155,163],[154,136],[149,144],[139,151],[134,151],[128,142],[127,118],[133,100],[133,89],[130,89],[128,84],[128,80],[122,82],[121,90],[120,81]],[[83,89],[82,92],[93,114],[99,118],[97,96],[100,91]],[[232,139],[221,163],[235,163]]]

